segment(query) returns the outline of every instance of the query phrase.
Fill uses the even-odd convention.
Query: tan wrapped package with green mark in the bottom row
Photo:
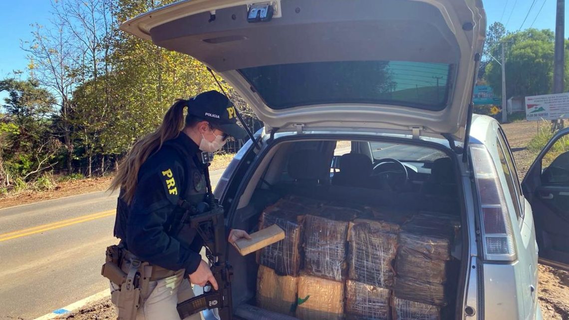
[[[301,320],[341,320],[344,317],[344,282],[308,276],[298,277],[298,307]]]

